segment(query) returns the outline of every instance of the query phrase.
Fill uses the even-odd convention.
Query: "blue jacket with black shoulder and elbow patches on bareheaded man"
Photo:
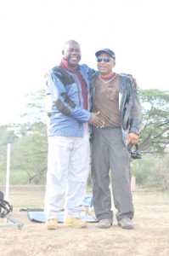
[[[83,125],[91,117],[90,79],[96,73],[87,65],[79,65],[87,84],[88,109],[83,109],[82,87],[74,73],[61,66],[48,73],[48,90],[52,97],[49,136],[83,137]]]

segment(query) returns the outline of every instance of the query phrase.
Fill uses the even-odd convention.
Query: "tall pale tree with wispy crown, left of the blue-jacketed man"
[[[11,145],[11,172],[25,172],[27,183],[42,183],[47,170],[47,114],[45,90],[31,92],[25,99],[25,113],[21,115],[24,125]],[[29,122],[25,122],[27,119]],[[12,132],[14,135],[14,132]],[[9,136],[9,134],[7,133]],[[23,181],[25,182],[25,181]]]

